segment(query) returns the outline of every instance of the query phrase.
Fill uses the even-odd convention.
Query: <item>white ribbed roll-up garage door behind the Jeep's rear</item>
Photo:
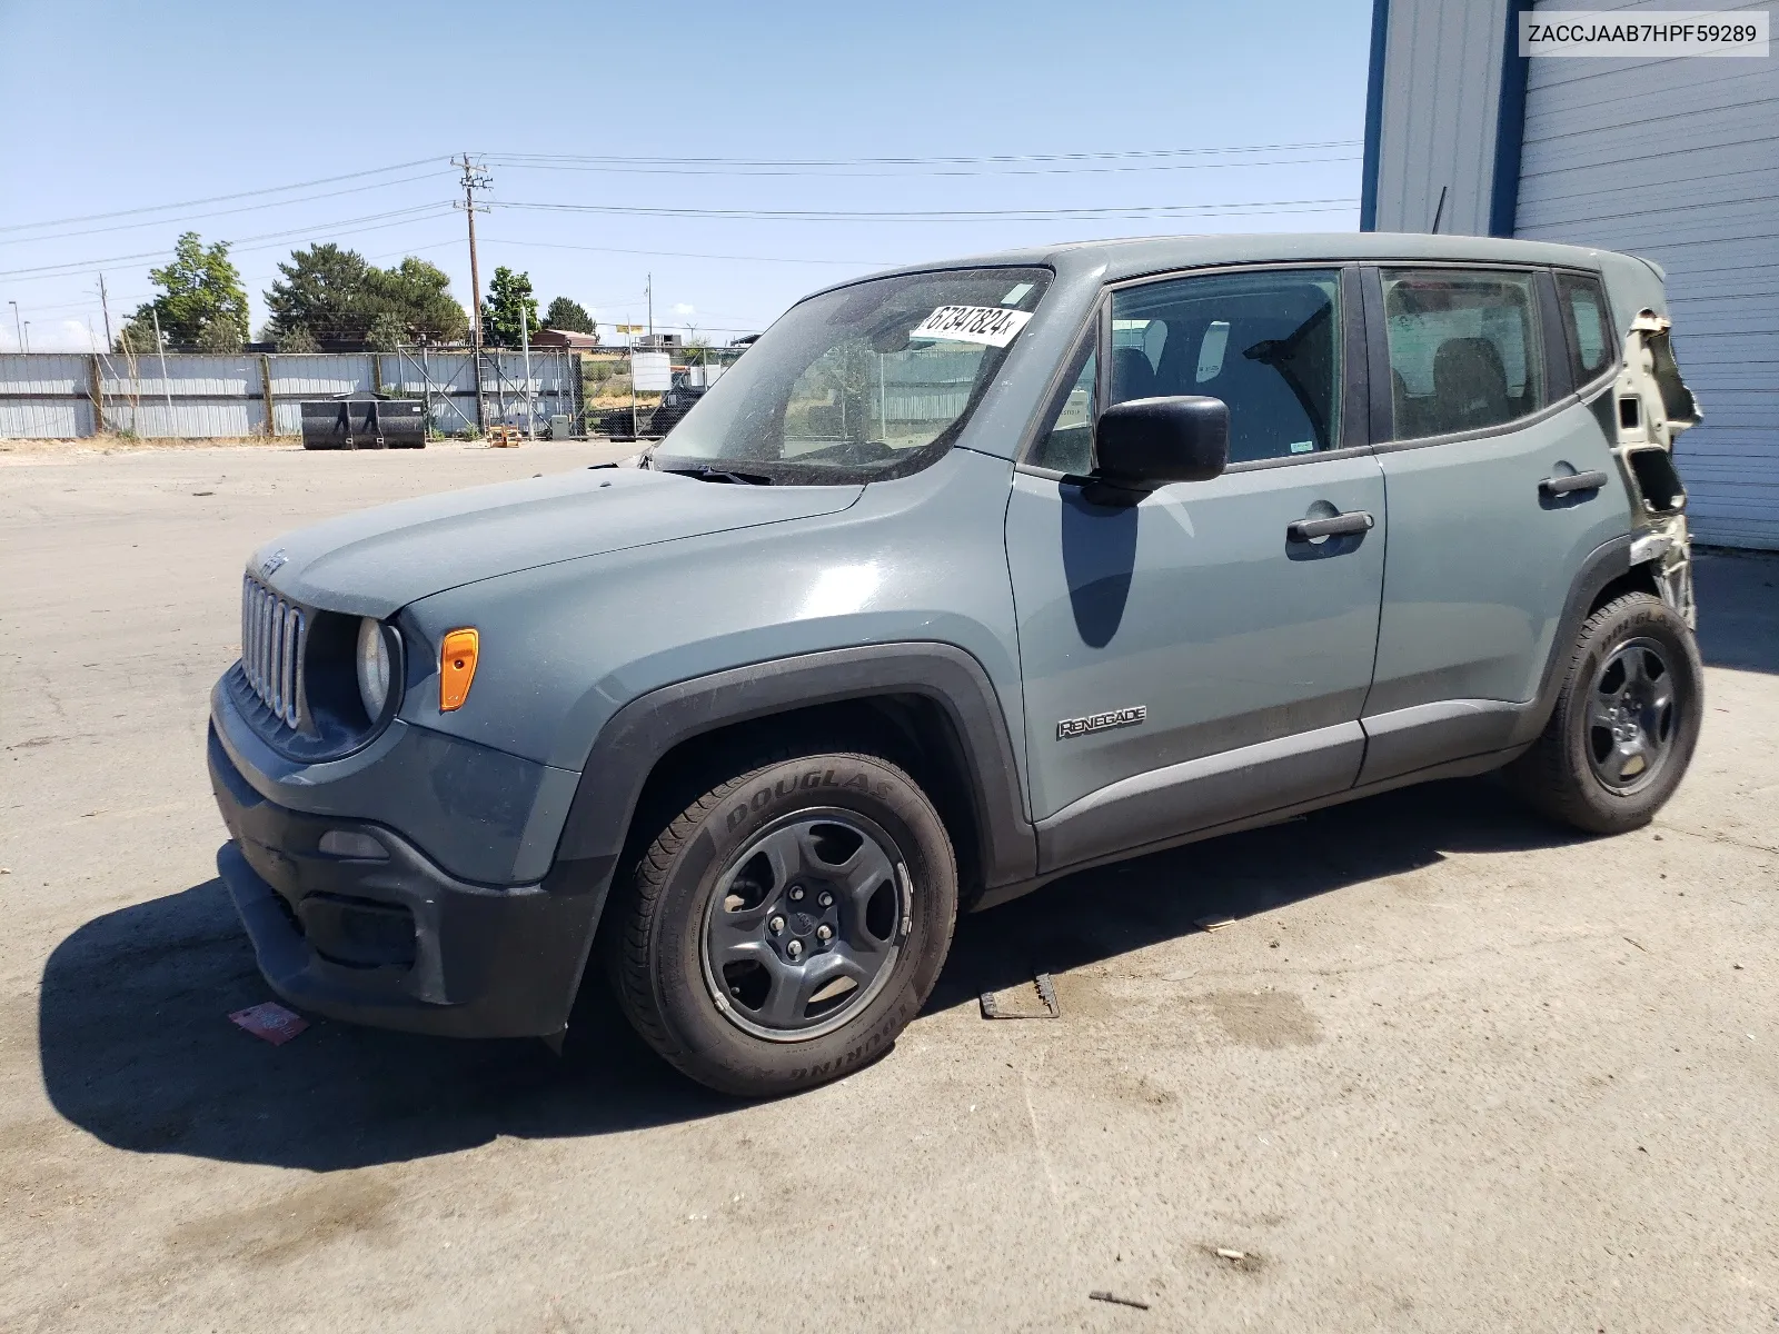
[[[1775,125],[1779,53],[1530,62],[1517,235],[1667,270],[1674,349],[1704,407],[1678,462],[1697,541],[1722,546],[1779,548]]]

